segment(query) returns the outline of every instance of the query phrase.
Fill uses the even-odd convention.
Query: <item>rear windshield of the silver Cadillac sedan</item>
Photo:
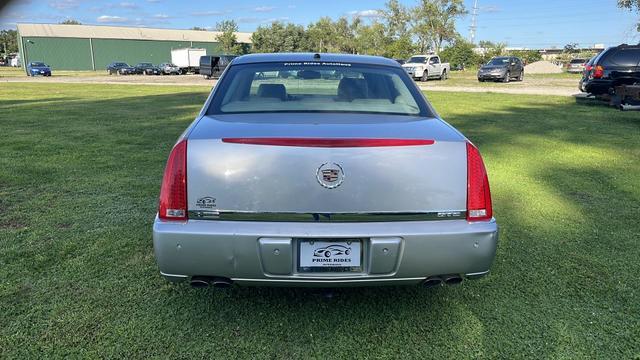
[[[208,114],[340,112],[432,116],[400,68],[296,62],[232,66]]]

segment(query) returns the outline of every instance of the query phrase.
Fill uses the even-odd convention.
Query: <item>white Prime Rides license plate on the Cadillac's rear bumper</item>
[[[360,271],[361,239],[340,241],[301,239],[298,246],[299,271]]]

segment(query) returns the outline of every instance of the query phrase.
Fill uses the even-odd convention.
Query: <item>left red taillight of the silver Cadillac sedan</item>
[[[162,220],[187,220],[187,140],[171,150],[164,169],[158,217]]]

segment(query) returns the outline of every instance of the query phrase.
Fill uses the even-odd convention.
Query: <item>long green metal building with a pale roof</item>
[[[171,50],[187,47],[220,54],[214,31],[120,26],[18,24],[22,66],[43,61],[55,70],[104,70],[113,61],[130,65],[171,61]],[[249,46],[251,33],[236,33]]]

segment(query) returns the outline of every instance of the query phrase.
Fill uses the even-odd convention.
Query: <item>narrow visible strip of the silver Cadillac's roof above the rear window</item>
[[[235,58],[234,65],[238,64],[255,64],[268,62],[304,62],[304,61],[322,61],[322,62],[343,62],[357,63],[368,65],[385,65],[399,67],[395,60],[387,59],[381,56],[370,55],[350,55],[350,54],[325,54],[320,53],[320,58],[315,57],[315,53],[274,53],[274,54],[249,54]]]

